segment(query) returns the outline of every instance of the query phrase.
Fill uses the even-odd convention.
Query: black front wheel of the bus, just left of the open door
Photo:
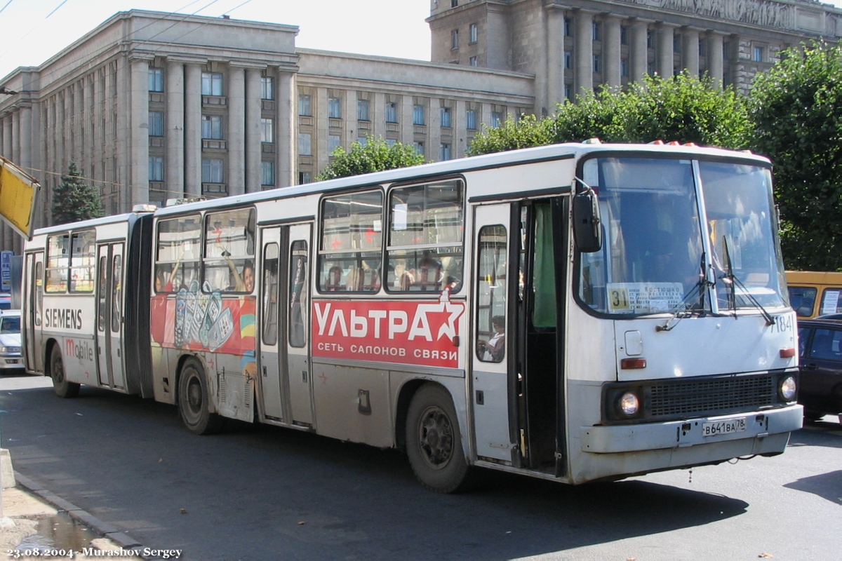
[[[468,463],[456,409],[439,385],[424,384],[407,411],[407,455],[415,477],[436,493],[466,490]]]

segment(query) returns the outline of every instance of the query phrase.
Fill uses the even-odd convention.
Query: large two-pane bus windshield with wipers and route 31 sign
[[[786,305],[769,170],[695,163],[628,156],[584,163],[605,234],[601,251],[579,257],[578,294],[592,310],[724,313]]]

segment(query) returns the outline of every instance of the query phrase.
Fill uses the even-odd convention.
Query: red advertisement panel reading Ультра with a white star
[[[445,291],[437,302],[321,300],[313,303],[315,357],[379,363],[459,366],[459,318],[465,304]]]

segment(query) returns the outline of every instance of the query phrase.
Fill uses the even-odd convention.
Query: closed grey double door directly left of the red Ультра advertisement
[[[264,415],[312,426],[307,333],[311,225],[263,230],[260,381]]]

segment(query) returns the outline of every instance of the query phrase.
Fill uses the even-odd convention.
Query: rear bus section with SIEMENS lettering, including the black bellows
[[[152,214],[35,231],[24,249],[24,359],[56,394],[80,384],[152,397],[149,251]]]

